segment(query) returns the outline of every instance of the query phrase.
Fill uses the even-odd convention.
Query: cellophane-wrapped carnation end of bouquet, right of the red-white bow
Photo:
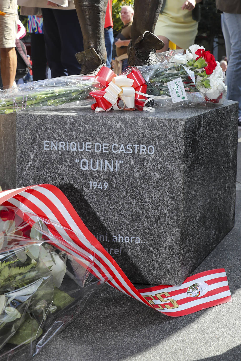
[[[224,84],[223,71],[218,61],[212,56],[212,68],[205,69],[204,58],[198,58],[195,52],[203,47],[192,45],[190,52],[187,49],[183,55],[183,50],[171,50],[164,53],[156,53],[157,63],[154,65],[139,66],[147,84],[147,95],[154,96],[155,105],[161,106],[196,106],[223,104],[227,96],[227,86]],[[196,60],[196,58],[201,60]],[[209,64],[208,64],[209,65]],[[181,78],[185,89],[186,98],[176,103],[173,102],[168,82]]]

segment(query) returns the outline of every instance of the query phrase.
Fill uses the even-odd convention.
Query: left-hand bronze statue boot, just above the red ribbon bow
[[[96,75],[102,66],[105,66],[101,57],[94,48],[77,53],[76,59],[82,65],[80,74]]]

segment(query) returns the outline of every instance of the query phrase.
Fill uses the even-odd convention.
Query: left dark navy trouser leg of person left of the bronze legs
[[[48,66],[51,69],[51,76],[52,78],[56,78],[68,75],[67,69],[61,63],[61,39],[53,10],[43,8],[42,13],[46,57]],[[71,28],[70,25],[69,27]]]

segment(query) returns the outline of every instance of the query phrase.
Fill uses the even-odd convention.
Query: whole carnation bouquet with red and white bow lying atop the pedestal
[[[191,45],[185,54],[182,50],[159,53],[156,59],[155,65],[128,67],[119,76],[103,67],[96,77],[71,75],[21,84],[2,92],[0,114],[39,112],[69,103],[91,106],[95,111],[136,108],[154,111],[146,106],[150,100],[169,106],[223,103],[227,87],[222,69],[203,46]]]

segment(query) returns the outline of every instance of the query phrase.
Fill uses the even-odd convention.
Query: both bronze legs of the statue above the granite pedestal
[[[74,0],[83,34],[84,51],[76,54],[81,74],[95,74],[106,63],[104,19],[108,0]],[[163,0],[135,0],[128,64],[152,64],[164,43],[153,34]]]

